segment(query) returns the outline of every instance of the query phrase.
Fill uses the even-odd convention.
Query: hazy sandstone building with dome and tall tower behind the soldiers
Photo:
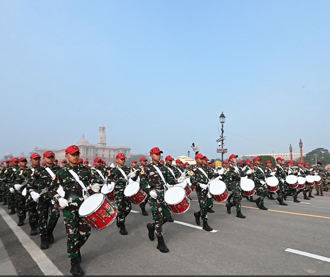
[[[98,143],[92,144],[82,135],[82,138],[76,143],[80,149],[80,157],[84,161],[89,161],[89,164],[93,164],[96,157],[101,157],[107,164],[116,162],[116,155],[118,153],[124,153],[127,159],[130,158],[131,148],[129,146],[107,146],[105,127],[101,125],[99,127]],[[67,147],[67,146],[66,146]],[[59,164],[61,160],[65,159],[66,147],[53,149],[53,148],[34,148],[29,154],[38,153],[43,156],[46,151],[53,151]],[[30,156],[29,155],[29,156]]]

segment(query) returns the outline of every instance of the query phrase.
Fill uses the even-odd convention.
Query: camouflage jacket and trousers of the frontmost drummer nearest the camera
[[[65,168],[56,172],[49,187],[49,196],[56,203],[61,198],[56,191],[58,187],[61,185],[65,191],[64,198],[69,203],[69,206],[63,209],[64,225],[68,235],[67,253],[70,259],[74,259],[78,258],[80,248],[90,235],[90,226],[78,214],[78,210],[84,201],[83,195],[85,192],[69,170],[73,170],[79,176],[85,187],[94,184],[96,179],[88,168],[79,165],[72,167],[68,164]]]

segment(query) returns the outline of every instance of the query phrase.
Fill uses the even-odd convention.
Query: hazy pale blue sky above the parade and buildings
[[[0,156],[96,143],[104,124],[134,153],[195,142],[216,158],[221,111],[228,154],[329,148],[329,14],[330,1],[0,1]]]

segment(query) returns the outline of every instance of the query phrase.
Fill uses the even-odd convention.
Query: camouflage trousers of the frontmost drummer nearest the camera
[[[90,226],[78,214],[79,207],[83,202],[83,197],[77,199],[79,199],[78,203],[77,200],[74,203],[69,202],[69,207],[63,209],[64,225],[68,235],[67,251],[70,259],[78,257],[78,250],[90,236]]]

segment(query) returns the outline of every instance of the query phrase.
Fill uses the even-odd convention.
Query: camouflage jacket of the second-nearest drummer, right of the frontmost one
[[[154,164],[153,162],[147,164],[140,173],[140,187],[145,192],[149,193],[153,188],[164,190],[164,181],[160,177],[154,165],[159,168],[164,176],[165,181],[170,185],[175,185],[177,181],[169,170],[161,163]]]

